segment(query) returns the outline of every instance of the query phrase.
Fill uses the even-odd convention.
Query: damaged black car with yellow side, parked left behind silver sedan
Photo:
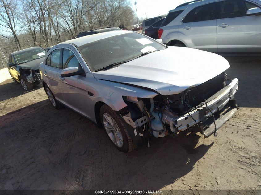
[[[15,84],[21,83],[24,90],[33,89],[39,83],[39,64],[44,61],[47,51],[42,47],[30,47],[9,55],[8,71]]]

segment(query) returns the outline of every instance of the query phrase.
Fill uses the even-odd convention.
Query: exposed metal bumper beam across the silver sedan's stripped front
[[[170,125],[170,129],[174,133],[184,131],[187,128],[198,124],[202,134],[205,136],[211,135],[221,128],[238,109],[234,100],[234,95],[238,90],[238,79],[228,80],[228,83],[229,84],[227,84],[226,87],[206,100],[201,107],[192,110],[190,114],[187,113],[178,117],[165,110],[162,112],[162,120]],[[210,110],[216,115],[216,127],[213,120],[213,114]]]

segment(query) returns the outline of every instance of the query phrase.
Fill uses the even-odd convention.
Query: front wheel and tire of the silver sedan
[[[120,115],[104,104],[100,109],[100,119],[113,145],[121,152],[133,151],[133,141]]]

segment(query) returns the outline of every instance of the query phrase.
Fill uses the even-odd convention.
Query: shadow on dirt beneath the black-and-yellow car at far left
[[[40,89],[41,87],[41,84],[34,85],[34,89],[30,91]],[[7,79],[6,81],[0,83],[0,102],[10,98],[18,97],[19,95],[26,94],[30,91],[25,91],[20,83],[15,85],[12,79]]]

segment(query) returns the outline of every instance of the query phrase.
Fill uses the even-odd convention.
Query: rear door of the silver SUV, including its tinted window
[[[217,52],[217,2],[193,8],[179,25],[179,40],[188,47]]]

